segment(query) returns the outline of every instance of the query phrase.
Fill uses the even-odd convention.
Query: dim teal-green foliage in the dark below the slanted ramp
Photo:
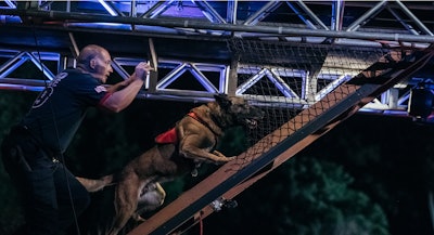
[[[353,181],[335,164],[292,158],[240,195],[238,208],[205,220],[205,234],[387,235],[380,205]]]

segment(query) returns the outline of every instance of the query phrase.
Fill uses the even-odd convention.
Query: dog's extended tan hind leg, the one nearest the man
[[[136,174],[129,175],[117,184],[115,191],[115,218],[108,235],[117,235],[135,213],[138,205],[139,192],[143,185]]]

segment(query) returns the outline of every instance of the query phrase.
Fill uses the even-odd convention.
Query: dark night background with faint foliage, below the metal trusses
[[[35,95],[0,92],[2,133]],[[117,171],[196,105],[137,100],[116,115],[91,110],[68,149],[67,166],[88,178]],[[356,114],[235,197],[238,207],[206,218],[203,234],[433,234],[433,128],[410,118]],[[213,169],[165,183],[165,205]],[[0,181],[0,234],[10,234],[22,214],[2,166]],[[112,190],[92,195],[91,207],[78,218],[81,234],[95,234],[108,220]]]

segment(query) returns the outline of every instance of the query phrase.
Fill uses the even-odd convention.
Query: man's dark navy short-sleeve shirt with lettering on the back
[[[110,93],[89,74],[66,69],[39,94],[22,125],[56,153],[64,153],[89,107],[100,106]]]

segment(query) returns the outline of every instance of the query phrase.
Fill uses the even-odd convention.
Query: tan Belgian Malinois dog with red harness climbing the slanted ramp
[[[138,198],[146,185],[195,172],[203,162],[221,165],[235,157],[215,151],[228,128],[255,128],[263,110],[242,97],[215,95],[215,101],[194,107],[174,129],[155,138],[156,144],[123,168],[115,187],[115,218],[107,234],[116,235],[135,217]]]

